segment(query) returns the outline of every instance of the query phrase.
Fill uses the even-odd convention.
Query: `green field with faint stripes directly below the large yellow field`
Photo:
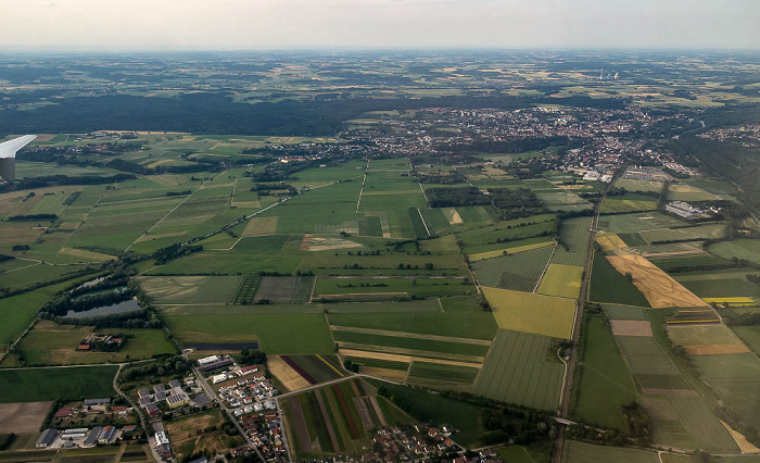
[[[474,384],[476,393],[555,411],[565,366],[547,361],[552,338],[499,329]]]

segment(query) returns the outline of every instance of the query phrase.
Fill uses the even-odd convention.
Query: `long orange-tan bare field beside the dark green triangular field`
[[[621,274],[631,273],[633,284],[655,309],[706,305],[705,301],[641,255],[611,255],[607,260]]]

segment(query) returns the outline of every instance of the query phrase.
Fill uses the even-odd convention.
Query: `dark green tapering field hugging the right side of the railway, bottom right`
[[[600,316],[588,316],[581,341],[583,355],[575,371],[580,381],[574,387],[573,416],[622,429],[621,406],[636,400],[636,387],[615,337]]]

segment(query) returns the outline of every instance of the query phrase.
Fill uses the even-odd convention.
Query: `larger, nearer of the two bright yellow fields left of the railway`
[[[575,301],[552,296],[482,287],[498,327],[570,339]]]

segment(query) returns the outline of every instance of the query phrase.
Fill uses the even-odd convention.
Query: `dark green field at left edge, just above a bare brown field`
[[[0,402],[113,397],[116,366],[0,371]]]

